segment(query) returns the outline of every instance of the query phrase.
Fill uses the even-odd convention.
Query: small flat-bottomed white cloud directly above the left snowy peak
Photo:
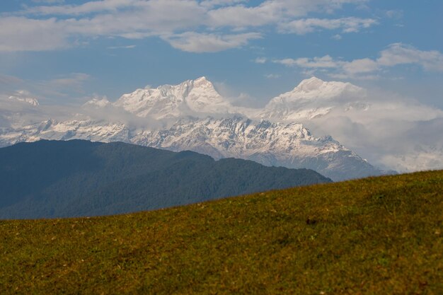
[[[260,39],[260,33],[237,35],[200,34],[194,32],[163,37],[172,47],[187,52],[219,52],[246,45],[249,40]]]

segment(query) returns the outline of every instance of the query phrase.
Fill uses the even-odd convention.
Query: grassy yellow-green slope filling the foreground
[[[443,294],[443,171],[0,221],[0,294]]]

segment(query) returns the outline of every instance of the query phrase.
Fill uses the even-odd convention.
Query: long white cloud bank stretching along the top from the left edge
[[[374,23],[359,18],[299,19],[364,0],[267,0],[255,6],[246,0],[97,0],[78,5],[34,1],[41,5],[24,6],[0,19],[0,40],[6,40],[0,52],[57,50],[84,43],[84,38],[114,36],[161,37],[180,50],[217,52],[257,39],[255,32],[265,25],[289,33],[292,25],[301,23],[304,28],[297,33],[331,28],[351,32]]]

